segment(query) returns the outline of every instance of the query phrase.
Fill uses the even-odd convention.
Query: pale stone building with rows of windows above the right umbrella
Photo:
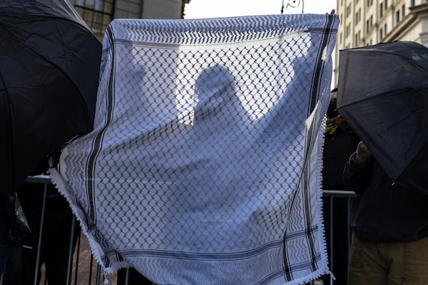
[[[428,46],[428,0],[337,0],[337,14],[335,83],[341,49],[389,41]]]

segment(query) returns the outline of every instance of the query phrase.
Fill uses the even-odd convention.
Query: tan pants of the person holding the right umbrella
[[[352,233],[348,285],[370,284],[428,285],[428,237],[371,244]]]

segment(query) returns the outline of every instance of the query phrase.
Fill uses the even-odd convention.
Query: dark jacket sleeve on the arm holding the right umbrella
[[[357,152],[354,152],[346,162],[342,177],[348,189],[361,194],[369,185],[372,161],[367,163],[367,165],[362,164],[355,160],[355,155],[357,155]]]

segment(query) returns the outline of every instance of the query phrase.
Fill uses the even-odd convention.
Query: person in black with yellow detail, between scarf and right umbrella
[[[360,138],[352,131],[345,119],[337,112],[337,88],[331,91],[330,105],[327,109],[327,122],[323,150],[322,189],[348,190],[342,180],[343,167],[352,152],[360,142]],[[323,197],[323,217],[325,224],[325,238],[327,251],[332,252],[330,266],[335,275],[335,284],[347,283],[347,199]],[[332,207],[332,217],[330,217]],[[330,219],[333,218],[332,236],[330,236]],[[330,248],[330,239],[332,248]],[[330,284],[330,276],[323,278],[324,285]]]

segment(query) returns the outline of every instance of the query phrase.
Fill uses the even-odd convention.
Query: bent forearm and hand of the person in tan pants
[[[361,194],[367,188],[370,182],[370,174],[372,170],[372,153],[364,142],[360,142],[357,151],[354,152],[350,160],[345,164],[343,170],[343,182],[350,190]]]

